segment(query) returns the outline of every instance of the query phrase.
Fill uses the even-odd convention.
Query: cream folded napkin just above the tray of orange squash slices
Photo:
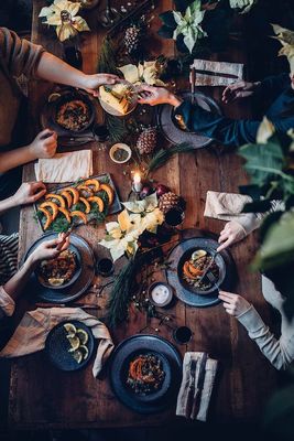
[[[91,174],[91,150],[57,153],[51,159],[40,159],[35,164],[36,180],[42,182],[72,182]]]

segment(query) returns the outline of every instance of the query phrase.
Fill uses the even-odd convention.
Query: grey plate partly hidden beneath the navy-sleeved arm
[[[179,97],[185,100],[190,100],[192,98],[189,92],[181,93]],[[194,94],[194,103],[195,105],[203,107],[205,110],[221,115],[218,104],[207,95],[196,92]],[[194,146],[195,149],[203,149],[213,142],[211,138],[181,129],[178,123],[175,121],[173,106],[167,104],[157,106],[156,119],[163,136],[173,144],[188,142],[189,144]]]

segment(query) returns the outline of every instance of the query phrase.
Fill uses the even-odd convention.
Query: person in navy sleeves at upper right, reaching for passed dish
[[[294,73],[271,76],[262,82],[238,82],[225,88],[222,101],[229,104],[238,98],[252,95],[260,100],[270,100],[265,115],[276,132],[285,133],[294,128]],[[156,106],[168,104],[175,108],[175,117],[193,132],[206,136],[226,146],[242,146],[255,142],[260,119],[231,119],[203,109],[197,104],[183,100],[164,87],[142,85],[140,104]]]

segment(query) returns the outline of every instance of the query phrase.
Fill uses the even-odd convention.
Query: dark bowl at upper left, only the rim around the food
[[[88,110],[89,110],[89,119],[81,129],[70,130],[57,122],[57,114],[58,114],[59,108],[65,103],[70,103],[70,101],[75,101],[75,100],[81,100],[86,104],[86,106],[88,107]],[[81,133],[81,132],[86,131],[94,122],[94,119],[95,119],[94,105],[92,105],[91,100],[87,97],[87,95],[81,92],[80,93],[76,92],[76,90],[65,92],[64,94],[62,94],[62,96],[59,98],[57,98],[53,103],[51,103],[51,105],[52,105],[51,106],[51,118],[52,118],[53,122],[56,126],[61,127],[62,130],[65,130],[68,133],[72,133],[72,135]]]

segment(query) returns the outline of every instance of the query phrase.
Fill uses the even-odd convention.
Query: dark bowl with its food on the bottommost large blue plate
[[[171,387],[171,366],[164,355],[138,349],[123,363],[121,381],[126,391],[138,401],[154,402],[163,398]]]

